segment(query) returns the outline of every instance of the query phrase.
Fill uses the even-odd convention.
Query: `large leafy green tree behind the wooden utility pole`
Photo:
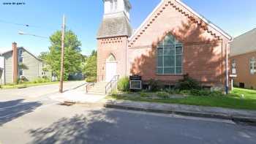
[[[56,31],[50,36],[50,43],[49,53],[42,53],[41,56],[42,59],[46,59],[50,70],[59,77],[61,70],[61,31]],[[83,56],[80,46],[81,42],[75,33],[70,30],[66,31],[64,39],[64,80],[67,80],[69,74],[81,72],[82,70]]]

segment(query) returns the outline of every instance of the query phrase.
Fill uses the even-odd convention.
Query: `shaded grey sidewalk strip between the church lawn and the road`
[[[132,102],[127,100],[106,100],[105,107],[154,113],[174,113],[205,118],[222,118],[256,124],[256,111],[253,110],[233,110],[221,107],[175,105],[154,102]]]

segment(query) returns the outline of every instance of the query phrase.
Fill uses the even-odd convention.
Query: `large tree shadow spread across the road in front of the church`
[[[211,125],[211,126],[209,126]],[[224,128],[223,128],[224,127]],[[212,132],[214,131],[214,132]],[[170,118],[158,115],[102,109],[60,118],[49,126],[30,129],[33,144],[154,144],[154,143],[236,143],[255,140],[255,132],[243,137],[236,126],[209,121]],[[219,136],[222,133],[222,137]]]

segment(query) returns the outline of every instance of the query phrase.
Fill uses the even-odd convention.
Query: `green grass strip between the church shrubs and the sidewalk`
[[[244,94],[244,97],[241,97]],[[256,110],[256,91],[235,88],[228,96],[184,96],[182,99],[148,99],[142,96],[113,94],[111,99],[125,99],[143,102],[161,102],[182,105],[200,105],[209,107],[227,107],[233,109]]]

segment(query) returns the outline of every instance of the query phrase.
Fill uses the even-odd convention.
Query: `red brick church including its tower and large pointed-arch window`
[[[225,87],[232,37],[182,1],[162,0],[134,33],[129,0],[104,0],[104,5],[98,77],[140,75],[144,83],[154,79],[173,86],[188,74],[204,86]]]

